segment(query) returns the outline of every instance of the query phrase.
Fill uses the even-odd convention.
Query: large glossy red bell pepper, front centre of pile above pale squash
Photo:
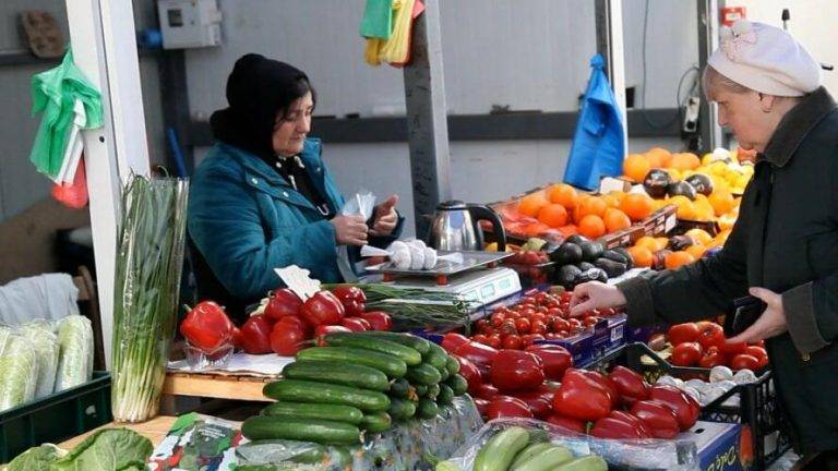
[[[611,396],[604,386],[585,375],[583,370],[570,369],[553,397],[553,411],[559,415],[594,421],[611,412]]]

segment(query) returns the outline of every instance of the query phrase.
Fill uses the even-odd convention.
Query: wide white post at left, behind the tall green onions
[[[82,135],[103,341],[110,365],[121,189],[131,173],[149,173],[134,12],[127,0],[67,0],[67,17],[75,63],[101,92],[104,126]]]

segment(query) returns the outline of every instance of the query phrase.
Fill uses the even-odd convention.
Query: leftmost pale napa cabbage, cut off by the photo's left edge
[[[0,411],[35,398],[38,354],[25,338],[12,334],[0,355]]]

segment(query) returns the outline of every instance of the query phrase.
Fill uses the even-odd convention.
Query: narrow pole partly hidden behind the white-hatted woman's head
[[[725,0],[698,0],[698,68],[704,71],[707,59],[719,47],[719,9]],[[705,97],[698,110],[698,148],[711,152],[728,146],[718,122],[718,107]]]

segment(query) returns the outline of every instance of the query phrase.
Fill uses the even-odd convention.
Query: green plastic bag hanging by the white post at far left
[[[56,179],[61,170],[80,100],[87,116],[83,129],[101,126],[101,95],[73,62],[72,50],[61,65],[32,77],[32,113],[44,112],[29,160],[39,172]]]

